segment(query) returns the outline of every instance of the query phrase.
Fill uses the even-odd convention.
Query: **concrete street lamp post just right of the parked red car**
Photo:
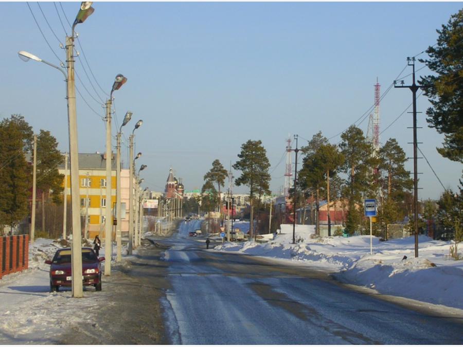
[[[112,258],[112,240],[111,234],[113,229],[113,216],[112,216],[112,201],[111,201],[111,105],[113,102],[113,92],[118,90],[122,84],[127,82],[127,78],[121,74],[118,74],[114,79],[113,87],[109,99],[106,101],[106,225],[104,226],[104,258],[106,263],[104,264],[104,276],[111,275],[111,258]],[[116,169],[116,180],[117,180],[117,169]],[[117,191],[117,183],[116,183]],[[116,227],[117,230],[117,227]],[[116,231],[117,232],[117,231]]]

